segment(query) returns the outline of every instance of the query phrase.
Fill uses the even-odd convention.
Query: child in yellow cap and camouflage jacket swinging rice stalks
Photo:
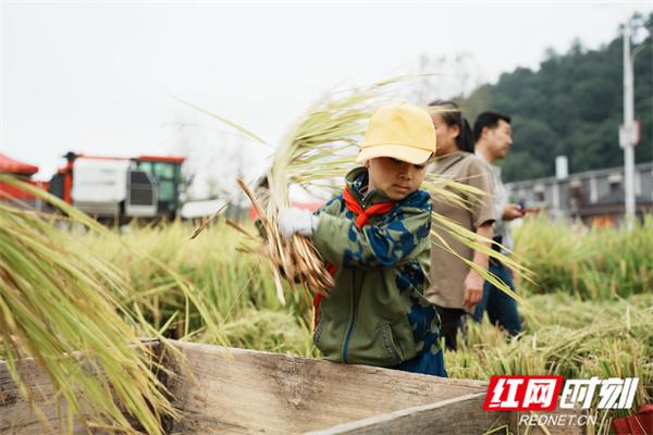
[[[435,152],[429,113],[401,103],[372,116],[342,195],[316,215],[279,212],[283,237],[312,237],[335,287],[317,298],[316,346],[326,360],[446,376],[440,318],[423,297],[431,199],[419,187]]]

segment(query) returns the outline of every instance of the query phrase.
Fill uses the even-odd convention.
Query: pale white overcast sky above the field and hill
[[[230,136],[214,129],[224,127],[171,95],[275,142],[337,84],[459,53],[495,82],[575,38],[597,48],[632,11],[653,10],[650,1],[1,4],[0,152],[39,165],[44,179],[69,150],[167,154],[188,138],[219,170]],[[181,132],[178,122],[209,128]],[[246,148],[251,166],[268,152]]]

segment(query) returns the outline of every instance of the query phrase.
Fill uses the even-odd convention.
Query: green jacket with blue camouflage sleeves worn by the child
[[[347,174],[360,206],[387,202],[368,184],[365,167]],[[431,198],[417,190],[387,213],[373,215],[360,231],[343,196],[316,213],[313,241],[336,266],[335,287],[322,298],[313,343],[330,361],[393,366],[423,351],[440,350],[440,318],[422,295],[428,287]]]

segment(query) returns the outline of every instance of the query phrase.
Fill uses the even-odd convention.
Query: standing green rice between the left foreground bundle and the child
[[[254,226],[245,226],[254,232]],[[185,336],[183,330],[188,318],[188,330],[195,341],[224,344],[224,339],[206,334],[201,316],[193,304],[186,310],[180,288],[171,284],[168,271],[174,271],[195,289],[207,311],[219,325],[248,315],[251,310],[291,310],[304,313],[304,297],[287,293],[286,308],[276,298],[276,290],[267,264],[256,257],[242,252],[238,234],[220,219],[205,229],[204,236],[188,240],[192,227],[180,221],[165,226],[133,224],[119,237],[106,238],[96,234],[83,236],[84,244],[98,256],[108,258],[130,276],[136,303],[155,327],[170,324],[169,335]],[[135,254],[134,252],[139,252]],[[165,264],[167,270],[152,268],[152,261]],[[172,320],[171,320],[172,319]],[[223,328],[221,326],[221,332]],[[229,343],[229,339],[226,339]]]

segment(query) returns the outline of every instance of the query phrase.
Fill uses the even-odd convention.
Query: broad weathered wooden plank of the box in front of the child
[[[468,394],[479,381],[176,343],[193,382],[169,385],[184,418],[175,433],[303,433]]]

